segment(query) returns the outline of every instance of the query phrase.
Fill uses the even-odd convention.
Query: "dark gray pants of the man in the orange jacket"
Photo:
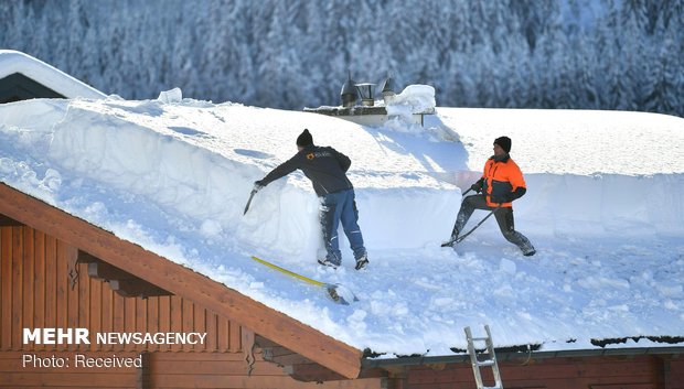
[[[458,216],[456,217],[453,231],[451,231],[452,238],[458,237],[458,235],[463,230],[466,223],[468,223],[468,219],[470,219],[470,216],[475,209],[492,210],[494,208],[487,205],[487,201],[484,199],[483,195],[466,197],[461,203],[461,209],[459,209]],[[499,224],[499,229],[501,229],[501,234],[503,234],[503,237],[506,238],[507,241],[517,246],[524,253],[534,250],[534,247],[530,242],[530,239],[515,230],[512,207],[501,207],[496,209],[494,212],[494,217],[496,218],[496,223]]]

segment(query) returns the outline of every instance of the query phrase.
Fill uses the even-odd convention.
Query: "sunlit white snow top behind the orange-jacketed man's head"
[[[524,173],[577,175],[681,174],[682,118],[643,112],[439,108],[426,126],[446,126],[467,149],[467,166],[481,171],[494,139],[512,141]]]

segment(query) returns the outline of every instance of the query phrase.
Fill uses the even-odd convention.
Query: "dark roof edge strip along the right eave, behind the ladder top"
[[[631,347],[631,348],[596,348],[596,349],[571,349],[557,352],[520,352],[520,353],[496,353],[499,361],[526,363],[531,359],[547,358],[586,358],[605,356],[638,356],[638,355],[680,355],[684,354],[684,346],[680,347]],[[461,364],[470,363],[468,354],[455,354],[434,357],[402,357],[393,359],[363,359],[364,368],[383,368],[391,366],[420,366],[437,364]]]

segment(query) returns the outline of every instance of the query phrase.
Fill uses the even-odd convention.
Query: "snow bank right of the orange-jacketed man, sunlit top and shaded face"
[[[493,140],[509,136],[525,173],[519,226],[535,234],[684,235],[684,119],[640,112],[439,108],[428,126],[458,133],[464,169],[442,174],[462,190],[478,180]],[[475,158],[478,155],[479,158]]]

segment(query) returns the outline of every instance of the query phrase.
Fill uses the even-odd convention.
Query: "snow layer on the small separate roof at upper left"
[[[106,95],[68,74],[28,54],[0,50],[0,79],[22,74],[67,98],[105,98]]]

